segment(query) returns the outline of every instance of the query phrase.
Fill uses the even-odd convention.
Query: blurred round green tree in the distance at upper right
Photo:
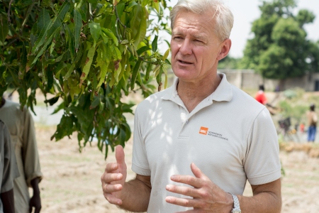
[[[294,15],[295,7],[294,0],[263,1],[260,18],[252,23],[254,38],[247,40],[240,67],[279,80],[319,72],[319,43],[308,40],[303,28],[315,16],[305,9]]]

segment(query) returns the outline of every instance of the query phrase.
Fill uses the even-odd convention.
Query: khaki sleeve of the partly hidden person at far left
[[[35,139],[35,127],[32,115],[26,107],[23,108],[24,128],[23,128],[23,145],[22,158],[24,163],[24,173],[26,175],[26,182],[31,187],[31,180],[34,178],[43,178],[40,169],[40,160],[38,154],[37,141]]]

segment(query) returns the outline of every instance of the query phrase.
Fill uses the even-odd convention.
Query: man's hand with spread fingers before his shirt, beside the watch
[[[194,163],[191,163],[191,171],[195,177],[190,175],[172,175],[171,180],[185,183],[192,187],[167,185],[166,190],[193,197],[193,199],[167,196],[166,202],[182,207],[194,207],[194,210],[187,212],[231,212],[233,197],[209,180]]]

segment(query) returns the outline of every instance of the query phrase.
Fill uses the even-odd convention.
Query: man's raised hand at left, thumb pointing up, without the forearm
[[[116,163],[108,163],[101,176],[103,195],[111,204],[122,204],[122,189],[126,180],[125,154],[122,146],[116,146]]]

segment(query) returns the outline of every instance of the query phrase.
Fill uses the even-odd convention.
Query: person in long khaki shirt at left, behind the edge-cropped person
[[[35,140],[35,127],[28,108],[2,97],[0,119],[4,121],[11,134],[18,171],[20,176],[13,182],[15,209],[18,213],[34,212],[41,209],[39,182],[43,175],[40,170],[38,146]],[[28,187],[33,188],[30,198]]]

